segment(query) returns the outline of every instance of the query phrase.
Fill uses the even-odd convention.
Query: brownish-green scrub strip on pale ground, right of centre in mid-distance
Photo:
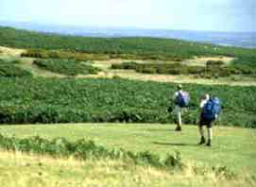
[[[112,69],[129,69],[144,74],[165,74],[165,75],[196,75],[202,77],[218,76],[256,76],[256,69],[242,63],[239,65],[224,66],[223,61],[207,61],[206,66],[189,66],[180,62],[176,63],[136,63],[133,61],[121,64],[112,64]]]

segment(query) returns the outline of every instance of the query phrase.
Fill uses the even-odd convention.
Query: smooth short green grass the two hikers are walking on
[[[94,140],[106,147],[150,151],[164,157],[167,153],[181,153],[184,161],[227,166],[237,173],[256,174],[256,131],[254,129],[214,127],[213,147],[198,146],[197,127],[185,126],[182,132],[167,125],[60,125],[60,126],[1,126],[4,135],[44,138],[65,137]]]

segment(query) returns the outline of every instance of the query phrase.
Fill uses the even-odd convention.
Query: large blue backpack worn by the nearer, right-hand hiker
[[[202,110],[202,118],[213,121],[215,120],[215,115],[219,114],[221,111],[221,101],[217,97],[212,97],[207,101]]]

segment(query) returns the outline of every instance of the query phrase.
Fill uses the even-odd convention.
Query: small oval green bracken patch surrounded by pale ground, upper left
[[[88,62],[81,62],[74,59],[36,59],[33,63],[43,69],[68,76],[97,74],[99,71],[98,68]]]

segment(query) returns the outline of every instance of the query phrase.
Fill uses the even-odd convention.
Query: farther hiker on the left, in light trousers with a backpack
[[[175,101],[175,109],[174,112],[177,114],[177,127],[176,131],[181,131],[182,121],[181,121],[181,112],[184,108],[188,107],[189,104],[189,94],[182,91],[181,84],[177,87],[177,92],[174,94],[173,99]]]

